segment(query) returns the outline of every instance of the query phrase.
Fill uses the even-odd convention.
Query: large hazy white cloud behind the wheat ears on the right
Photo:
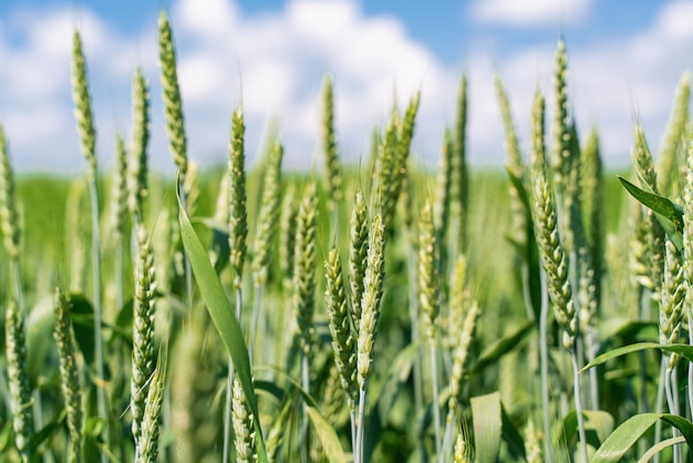
[[[689,32],[676,25],[681,23],[680,16],[690,8],[691,2],[669,3],[649,28],[599,45],[571,48],[568,42],[571,109],[582,135],[589,127],[597,127],[602,155],[611,165],[630,164],[635,120],[643,124],[650,147],[656,154],[676,85],[693,62]],[[498,70],[510,93],[526,148],[531,97],[537,86],[547,96],[547,128],[551,126],[554,55],[555,47],[548,44],[520,50],[499,61]],[[475,64],[474,69],[473,75],[488,79],[483,65]],[[476,86],[472,97],[496,102],[487,84]],[[469,134],[472,153],[503,152],[499,114],[495,106],[486,112],[475,110],[473,117],[478,120]]]

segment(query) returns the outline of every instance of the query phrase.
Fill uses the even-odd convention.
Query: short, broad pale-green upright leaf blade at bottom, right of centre
[[[474,443],[478,463],[498,461],[503,420],[500,413],[500,394],[472,398],[472,420],[474,421]]]

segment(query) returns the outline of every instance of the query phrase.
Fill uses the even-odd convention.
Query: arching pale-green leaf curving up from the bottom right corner
[[[689,445],[693,444],[693,423],[685,418],[668,413],[641,413],[630,418],[611,433],[597,450],[591,463],[614,463],[638,442],[638,440],[656,422],[662,420],[679,429]]]

